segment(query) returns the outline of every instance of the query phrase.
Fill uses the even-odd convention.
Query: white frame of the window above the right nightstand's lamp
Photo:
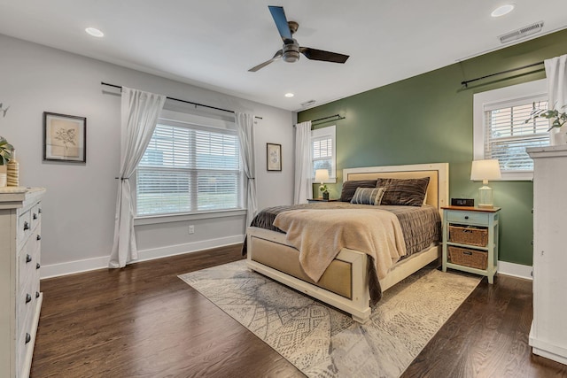
[[[529,81],[505,88],[487,90],[473,96],[473,159],[485,158],[485,108],[495,104],[508,104],[525,100],[548,101],[545,79]],[[502,172],[501,181],[532,181],[533,171]]]

